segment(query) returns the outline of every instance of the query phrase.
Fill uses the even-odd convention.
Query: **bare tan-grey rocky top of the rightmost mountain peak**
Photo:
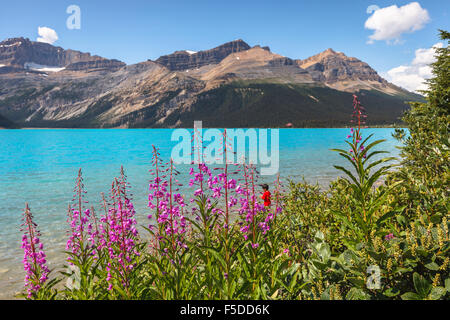
[[[332,49],[296,62],[299,67],[307,70],[315,81],[319,82],[335,83],[355,80],[386,82],[367,63]]]

